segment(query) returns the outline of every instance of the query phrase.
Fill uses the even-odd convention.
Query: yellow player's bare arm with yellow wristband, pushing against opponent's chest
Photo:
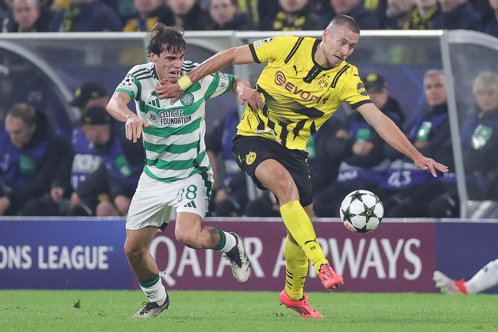
[[[249,45],[232,47],[216,53],[197,68],[180,77],[177,83],[169,83],[167,81],[159,81],[156,86],[156,95],[160,99],[172,97],[171,103],[175,103],[183,95],[183,91],[190,87],[193,83],[199,81],[203,77],[223,70],[231,65],[242,65],[254,63]]]

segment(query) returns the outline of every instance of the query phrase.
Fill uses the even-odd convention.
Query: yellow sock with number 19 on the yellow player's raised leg
[[[328,264],[329,261],[325,258],[322,247],[316,240],[315,230],[308,214],[299,201],[290,201],[282,205],[280,214],[290,234],[301,246],[306,257],[315,267],[316,273],[319,274],[320,265]]]

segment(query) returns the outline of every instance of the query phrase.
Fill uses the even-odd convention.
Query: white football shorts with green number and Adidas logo
[[[208,212],[213,188],[212,172],[194,174],[174,182],[162,182],[140,175],[135,194],[126,217],[126,229],[156,226],[164,230],[171,211],[191,212],[204,219]]]

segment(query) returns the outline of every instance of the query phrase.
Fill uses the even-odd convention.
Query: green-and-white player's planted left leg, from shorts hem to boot
[[[155,317],[169,306],[169,296],[164,288],[157,264],[149,246],[157,232],[155,226],[126,229],[124,253],[140,288],[148,298],[147,304],[133,318]]]

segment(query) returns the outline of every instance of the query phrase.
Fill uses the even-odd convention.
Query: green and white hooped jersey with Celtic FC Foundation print
[[[181,75],[199,64],[185,61]],[[204,134],[206,101],[232,90],[234,76],[221,72],[208,75],[188,88],[175,104],[159,99],[159,82],[153,62],[131,68],[116,91],[135,100],[137,115],[150,128],[142,128],[146,163],[144,172],[152,179],[173,182],[194,174],[212,173]]]

